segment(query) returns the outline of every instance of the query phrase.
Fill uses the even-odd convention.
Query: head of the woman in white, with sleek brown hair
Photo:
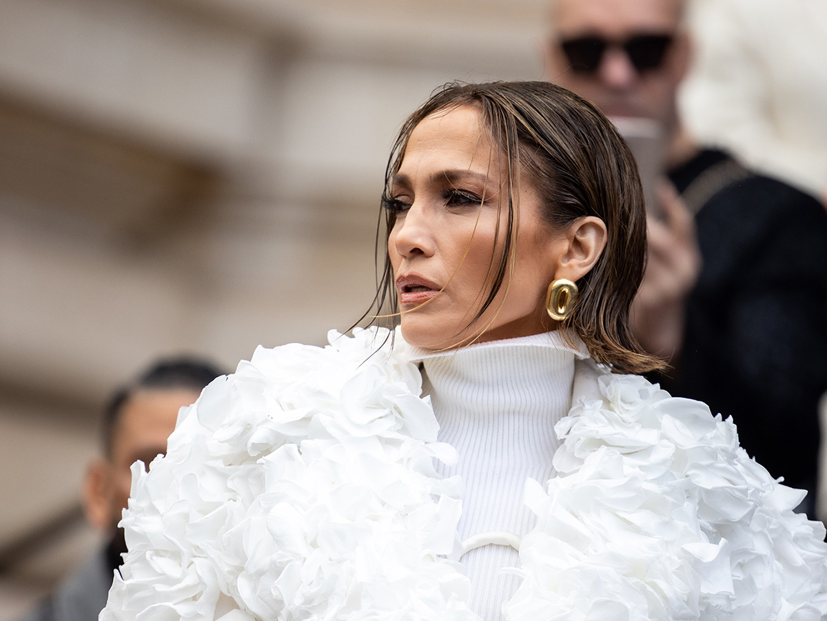
[[[629,147],[547,82],[449,84],[397,136],[385,177],[385,279],[425,349],[560,329],[617,370],[659,365],[629,331],[646,215]],[[549,285],[575,282],[565,318]]]

